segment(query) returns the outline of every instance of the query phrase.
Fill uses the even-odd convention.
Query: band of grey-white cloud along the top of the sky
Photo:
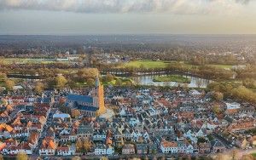
[[[79,13],[216,14],[237,12],[250,0],[0,0],[0,9]]]

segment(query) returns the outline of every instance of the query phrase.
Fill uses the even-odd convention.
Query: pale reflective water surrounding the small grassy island
[[[167,76],[167,75],[158,75],[158,76]],[[169,87],[177,87],[178,84],[183,83],[177,83],[177,82],[154,82],[155,75],[152,76],[138,76],[138,77],[132,77],[132,80],[139,84],[139,85],[148,85],[148,86],[169,86]],[[191,79],[190,83],[188,83],[189,88],[207,88],[207,85],[209,83],[212,83],[211,80],[203,79],[200,77],[190,77],[190,76],[183,76],[188,77]]]

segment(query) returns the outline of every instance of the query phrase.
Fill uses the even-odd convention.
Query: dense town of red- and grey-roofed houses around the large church
[[[255,146],[256,137],[249,131],[256,127],[253,104],[217,103],[196,89],[108,88],[105,94],[102,89],[97,82],[89,95],[2,96],[1,152],[200,157]]]

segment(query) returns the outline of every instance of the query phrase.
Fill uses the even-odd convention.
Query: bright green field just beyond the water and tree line
[[[139,68],[141,66],[145,68],[165,68],[172,61],[154,61],[154,60],[135,60],[125,63],[120,67],[135,67]]]

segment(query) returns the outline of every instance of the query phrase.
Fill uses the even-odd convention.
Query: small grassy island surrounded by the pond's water
[[[190,83],[190,79],[187,77],[182,77],[179,75],[170,75],[170,76],[159,76],[154,77],[154,82],[177,82],[177,83]]]

